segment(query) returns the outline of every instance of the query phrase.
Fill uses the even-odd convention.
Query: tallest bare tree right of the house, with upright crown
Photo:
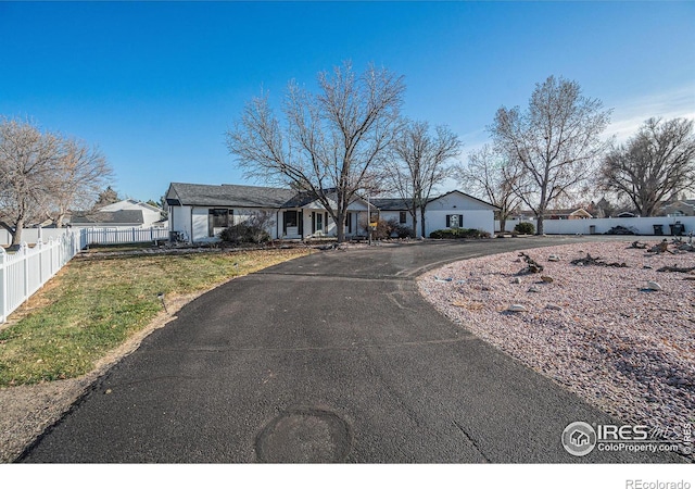
[[[543,234],[548,205],[593,172],[608,147],[602,134],[609,121],[610,111],[598,99],[582,96],[576,82],[554,76],[536,84],[525,112],[497,111],[490,131],[521,170],[515,191],[535,214],[538,234]]]

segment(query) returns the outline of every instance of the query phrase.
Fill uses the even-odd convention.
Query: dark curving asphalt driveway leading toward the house
[[[611,419],[435,312],[415,277],[586,238],[327,251],[187,305],[24,462],[669,462],[561,443]]]

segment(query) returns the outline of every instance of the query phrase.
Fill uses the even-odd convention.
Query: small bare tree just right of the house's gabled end
[[[521,176],[519,165],[494,147],[484,145],[478,151],[468,154],[468,164],[458,166],[456,180],[467,192],[489,201],[500,208],[500,230],[505,231],[507,218],[519,208],[521,199],[515,187]]]

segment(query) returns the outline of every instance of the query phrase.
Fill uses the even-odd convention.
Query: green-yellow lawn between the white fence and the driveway
[[[0,331],[0,387],[78,377],[144,328],[165,297],[306,255],[306,250],[129,255],[68,263],[30,301],[36,311]]]

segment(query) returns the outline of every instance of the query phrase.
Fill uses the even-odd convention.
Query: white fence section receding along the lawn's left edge
[[[77,231],[39,241],[34,248],[23,242],[16,253],[0,247],[0,323],[43,286],[80,250]]]

